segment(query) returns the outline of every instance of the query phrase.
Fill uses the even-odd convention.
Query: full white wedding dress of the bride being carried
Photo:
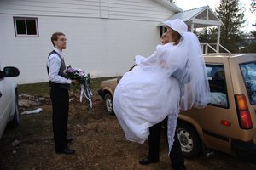
[[[113,110],[125,132],[126,139],[142,144],[148,138],[149,127],[169,116],[168,130],[171,130],[171,138],[168,140],[169,145],[172,146],[183,87],[180,86],[182,80],[172,77],[172,73],[177,69],[183,70],[185,66],[191,66],[188,62],[191,60],[189,50],[181,48],[183,45],[184,42],[178,45],[167,43],[158,45],[154,54],[148,58],[137,55],[137,66],[126,72],[119,81],[113,96]],[[202,67],[203,60],[198,60]],[[198,67],[197,71],[201,71],[198,65],[196,67]],[[199,75],[205,76],[205,73]],[[190,83],[193,83],[193,78],[195,77],[192,77]],[[185,109],[197,105],[189,97],[193,94],[190,90],[191,85],[183,90],[182,95],[187,102]],[[199,100],[198,94],[194,96]]]

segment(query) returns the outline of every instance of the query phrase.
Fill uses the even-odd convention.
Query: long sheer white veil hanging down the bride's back
[[[182,37],[180,46],[185,49],[184,54],[188,55],[186,69],[189,71],[190,82],[183,80],[181,85],[181,109],[203,108],[210,102],[210,88],[200,42],[192,32],[185,32]]]

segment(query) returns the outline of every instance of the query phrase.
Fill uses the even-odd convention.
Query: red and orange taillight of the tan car
[[[253,122],[248,110],[247,99],[245,95],[235,95],[235,98],[240,127],[242,129],[253,128]]]

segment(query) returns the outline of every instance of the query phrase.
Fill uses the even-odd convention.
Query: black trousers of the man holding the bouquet
[[[55,151],[67,148],[67,119],[69,94],[64,88],[51,88],[50,99],[52,101],[52,125],[55,140]]]

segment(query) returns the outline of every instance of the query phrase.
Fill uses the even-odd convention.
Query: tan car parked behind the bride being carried
[[[205,54],[211,103],[181,111],[177,133],[183,156],[220,150],[256,161],[256,54]],[[103,81],[98,94],[113,113],[119,78]]]

